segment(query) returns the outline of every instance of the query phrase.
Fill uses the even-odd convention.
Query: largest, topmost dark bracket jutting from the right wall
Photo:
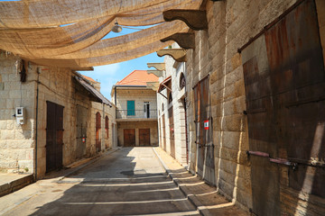
[[[163,12],[163,19],[166,22],[181,20],[195,31],[208,29],[206,11],[172,9]]]

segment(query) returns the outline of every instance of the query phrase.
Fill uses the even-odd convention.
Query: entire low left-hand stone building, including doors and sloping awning
[[[0,168],[34,173],[68,166],[114,146],[115,106],[69,68],[42,67],[0,53]],[[23,107],[23,124],[17,123]],[[14,113],[16,116],[14,117]],[[96,130],[96,114],[100,113]],[[37,160],[35,159],[37,157]]]

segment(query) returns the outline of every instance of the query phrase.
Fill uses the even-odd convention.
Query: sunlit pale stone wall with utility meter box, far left
[[[36,83],[30,75],[26,82],[20,82],[19,62],[19,58],[0,50],[0,169],[11,172],[19,167],[20,171],[32,172]],[[13,116],[16,107],[24,107],[23,125]]]

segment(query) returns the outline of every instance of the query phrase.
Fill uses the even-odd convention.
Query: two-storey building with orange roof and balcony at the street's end
[[[119,146],[158,146],[157,98],[149,86],[157,81],[157,76],[135,70],[113,86]]]

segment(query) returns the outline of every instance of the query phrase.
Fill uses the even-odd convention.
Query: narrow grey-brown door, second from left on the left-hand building
[[[87,141],[87,108],[77,105],[77,149],[76,157],[86,155]]]

